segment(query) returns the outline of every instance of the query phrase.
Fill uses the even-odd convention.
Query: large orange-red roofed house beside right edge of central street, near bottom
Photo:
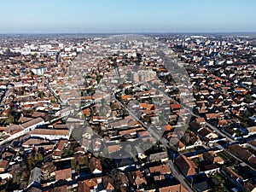
[[[189,160],[186,156],[184,155],[179,155],[176,158],[176,164],[177,167],[180,169],[181,172],[185,176],[191,176],[197,174],[197,166],[195,163],[191,160]]]

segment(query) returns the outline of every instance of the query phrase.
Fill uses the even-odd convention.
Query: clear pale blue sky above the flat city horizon
[[[0,33],[256,32],[255,0],[0,1]]]

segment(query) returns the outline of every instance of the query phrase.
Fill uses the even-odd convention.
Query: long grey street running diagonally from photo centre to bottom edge
[[[115,98],[115,96],[113,96],[114,100],[116,102],[119,103],[119,105],[122,108],[125,108],[125,110],[127,110],[127,112],[131,115],[132,118],[136,119],[138,122],[140,122],[145,128],[148,129],[148,132],[151,134],[152,137],[154,137],[157,141],[160,141],[160,143],[162,143],[165,148],[173,148],[172,145],[170,145],[169,141],[166,140],[166,138],[162,137],[161,135],[159,135],[157,132],[153,131],[152,129],[148,128],[148,125],[145,125],[144,122],[140,119],[138,119],[138,117],[131,112],[131,110],[129,108],[126,108],[125,105],[122,102],[119,102],[119,100],[117,100]],[[176,151],[176,148],[173,148]],[[172,160],[169,160],[169,165],[172,171],[172,175],[174,177],[177,178],[177,180],[183,184],[183,186],[189,190],[189,192],[194,192],[195,190],[193,190],[190,185],[189,182],[185,179],[185,177],[183,177],[183,174],[181,174],[180,172],[177,171],[177,167],[173,164]]]

